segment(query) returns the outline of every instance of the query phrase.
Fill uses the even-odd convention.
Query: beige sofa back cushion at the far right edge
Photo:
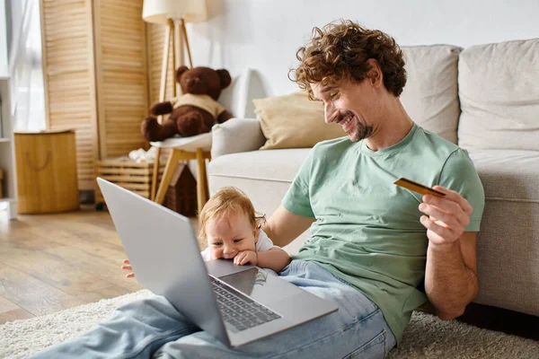
[[[464,148],[539,151],[539,39],[466,48],[458,65]]]

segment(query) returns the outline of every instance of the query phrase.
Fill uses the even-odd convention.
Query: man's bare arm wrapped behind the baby
[[[315,221],[316,220],[311,217],[294,215],[281,205],[278,206],[275,213],[271,215],[268,222],[262,226],[262,231],[266,232],[275,245],[283,247],[291,241],[294,241]]]

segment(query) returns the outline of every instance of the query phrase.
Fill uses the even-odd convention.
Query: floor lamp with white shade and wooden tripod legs
[[[185,44],[187,55],[189,57],[190,68],[193,67],[193,62],[190,54],[189,39],[187,38],[187,31],[185,28],[185,22],[203,22],[208,18],[208,12],[206,7],[206,0],[145,0],[142,10],[142,18],[145,22],[153,23],[166,23],[166,29],[164,31],[164,48],[163,48],[163,63],[161,65],[161,84],[159,87],[159,100],[164,101],[164,95],[166,90],[166,79],[169,71],[169,51],[171,50],[172,43],[172,73],[176,71],[176,68],[181,64],[177,64],[177,54],[179,40],[176,35],[176,21],[180,22],[181,39]],[[172,77],[174,77],[172,75]],[[172,86],[172,97],[177,95],[177,85]],[[162,122],[163,117],[158,118],[159,122]],[[154,162],[154,173],[152,180],[152,192],[150,197],[152,200],[155,198],[155,192],[157,188],[157,179],[159,175],[159,161],[161,156],[161,147],[157,147]]]

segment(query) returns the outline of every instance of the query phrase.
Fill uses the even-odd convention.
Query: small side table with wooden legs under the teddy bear
[[[151,144],[155,147],[171,149],[154,202],[160,205],[163,203],[166,190],[171,183],[172,175],[179,161],[197,160],[197,201],[200,213],[209,196],[206,160],[211,161],[211,133],[192,137],[172,137],[165,141],[152,142]],[[155,159],[154,165],[159,166],[158,158]]]

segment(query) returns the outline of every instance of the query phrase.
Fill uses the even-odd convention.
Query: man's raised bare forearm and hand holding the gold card
[[[476,232],[464,232],[473,208],[457,192],[440,186],[446,196],[424,196],[420,222],[427,228],[429,250],[425,291],[442,320],[464,313],[478,292]]]

